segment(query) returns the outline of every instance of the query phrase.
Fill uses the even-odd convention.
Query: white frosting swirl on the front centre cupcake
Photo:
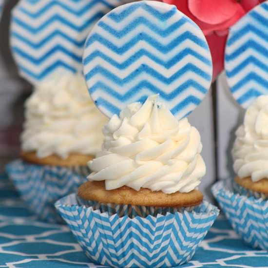
[[[177,121],[157,96],[133,103],[104,126],[105,141],[89,162],[89,180],[105,180],[107,190],[172,193],[195,189],[206,172],[198,131],[187,118]]]

